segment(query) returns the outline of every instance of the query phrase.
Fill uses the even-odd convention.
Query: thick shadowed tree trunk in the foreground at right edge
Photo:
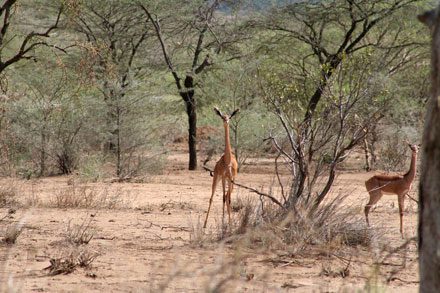
[[[432,85],[423,133],[420,177],[419,270],[420,292],[440,288],[440,17],[436,11],[419,16],[431,25]]]

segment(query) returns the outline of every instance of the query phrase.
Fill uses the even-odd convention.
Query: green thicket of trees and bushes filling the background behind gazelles
[[[401,142],[419,141],[428,2],[5,1],[0,65],[21,55],[0,66],[0,170],[131,178],[176,141],[191,169],[221,152],[221,132],[194,130],[218,127],[216,105],[241,109],[240,167],[272,156],[286,202],[319,204],[353,151],[359,168],[401,168]]]

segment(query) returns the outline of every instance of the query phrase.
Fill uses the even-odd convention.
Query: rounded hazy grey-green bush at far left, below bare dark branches
[[[38,74],[14,82],[23,90],[16,90],[17,98],[7,110],[11,136],[15,138],[13,147],[20,150],[17,160],[33,161],[37,176],[53,173],[51,167],[69,174],[77,163],[77,140],[84,121],[78,99],[80,86],[67,68],[51,60],[46,59],[33,72]],[[22,171],[26,176],[34,173]]]

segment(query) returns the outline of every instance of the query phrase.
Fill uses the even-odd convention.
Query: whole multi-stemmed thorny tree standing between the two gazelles
[[[298,2],[266,19],[264,27],[280,48],[294,48],[278,52],[277,64],[285,65],[266,68],[280,73],[264,77],[261,87],[287,137],[284,145],[275,135],[272,140],[291,168],[288,205],[311,196],[319,205],[336,166],[383,117],[378,110],[392,97],[386,81],[419,57],[414,30],[395,26],[415,2]],[[324,182],[314,190],[318,178]]]

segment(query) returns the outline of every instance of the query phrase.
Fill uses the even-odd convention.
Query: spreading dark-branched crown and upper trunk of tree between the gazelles
[[[417,42],[405,40],[403,30],[394,29],[395,24],[388,19],[416,2],[421,0],[299,2],[274,11],[266,27],[309,47],[310,57],[319,68],[320,79],[308,99],[304,121],[312,119],[330,77],[351,55],[368,48],[394,48],[390,52],[394,58],[388,58],[390,63],[384,65],[398,70],[411,61],[408,47]],[[397,56],[404,56],[405,62],[393,65]]]

